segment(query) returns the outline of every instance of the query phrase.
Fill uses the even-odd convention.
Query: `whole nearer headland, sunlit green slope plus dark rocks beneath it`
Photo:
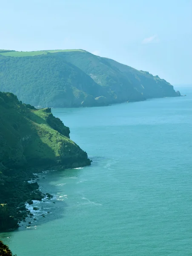
[[[13,93],[0,92],[0,231],[17,227],[17,221],[26,217],[18,209],[20,203],[41,200],[38,184],[26,182],[34,178],[34,168],[37,172],[90,164],[69,132],[50,108],[37,110]]]

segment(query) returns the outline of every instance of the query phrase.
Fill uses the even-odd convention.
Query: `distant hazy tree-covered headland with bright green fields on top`
[[[0,50],[0,90],[37,107],[55,108],[180,96],[158,76],[83,50]]]

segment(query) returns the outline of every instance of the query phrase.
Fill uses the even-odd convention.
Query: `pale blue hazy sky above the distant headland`
[[[6,0],[0,49],[84,49],[192,84],[192,0]]]

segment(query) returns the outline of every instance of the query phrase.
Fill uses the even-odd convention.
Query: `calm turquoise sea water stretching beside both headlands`
[[[181,93],[53,109],[92,166],[42,174],[53,200],[0,238],[17,256],[192,255],[192,89]]]

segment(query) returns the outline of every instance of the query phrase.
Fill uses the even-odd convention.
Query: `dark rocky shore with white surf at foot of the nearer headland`
[[[82,166],[84,165],[82,164]],[[74,168],[74,164],[71,168]],[[4,173],[6,173],[6,170],[7,172],[10,171],[5,169],[6,167],[4,167]],[[29,228],[32,221],[36,221],[33,212],[38,212],[39,207],[34,205],[34,202],[45,202],[53,199],[53,195],[49,194],[49,192],[43,193],[40,191],[39,184],[37,183],[40,180],[40,174],[47,172],[46,170],[56,169],[66,168],[64,166],[57,166],[57,168],[52,167],[49,169],[11,170],[11,175],[14,172],[15,176],[4,177],[5,183],[3,186],[0,186],[0,201],[3,201],[3,204],[0,204],[0,232],[15,230],[21,224]],[[49,211],[46,212],[46,214],[49,213]],[[41,216],[45,218],[46,214],[41,214]],[[28,222],[26,222],[26,218],[28,218]]]

